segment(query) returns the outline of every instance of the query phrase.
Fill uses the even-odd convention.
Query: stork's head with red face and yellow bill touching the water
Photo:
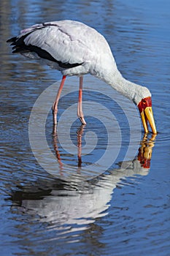
[[[152,113],[152,99],[150,90],[142,86],[140,88],[140,93],[137,95],[137,98],[138,99],[136,99],[136,105],[138,106],[139,112],[141,114],[144,132],[148,132],[149,122],[150,127],[152,129],[152,133],[157,134],[155,121]]]

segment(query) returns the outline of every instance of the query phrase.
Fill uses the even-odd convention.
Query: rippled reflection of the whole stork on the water
[[[81,136],[82,130],[80,129],[80,133],[78,133],[77,172],[80,172],[82,162],[80,156],[81,146],[79,144]],[[24,188],[20,192],[20,197],[13,195],[12,200],[20,198],[20,206],[23,211],[26,211],[27,214],[37,214],[42,222],[49,222],[55,225],[55,229],[62,230],[62,234],[86,229],[89,223],[93,223],[96,218],[107,214],[113,189],[120,183],[123,186],[123,178],[136,176],[136,174],[141,176],[148,174],[154,140],[155,136],[152,135],[152,138],[147,138],[145,135],[139,148],[138,157],[132,161],[121,163],[120,167],[110,170],[107,175],[103,174],[90,181],[82,181],[80,183],[76,181],[64,181],[62,183],[58,179],[51,181],[51,183],[48,181],[49,184],[47,184],[47,181],[39,181],[35,187]],[[55,153],[62,173],[62,156],[58,151],[56,142],[57,138],[56,134],[54,134]],[[34,200],[31,200],[30,195]],[[66,225],[69,225],[69,228],[66,228]],[[70,228],[70,225],[74,226]]]

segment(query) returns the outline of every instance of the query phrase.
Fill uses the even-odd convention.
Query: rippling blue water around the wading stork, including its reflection
[[[169,1],[0,7],[1,255],[169,255]],[[134,105],[90,75],[88,124],[76,117],[79,80],[68,78],[53,127],[60,72],[12,55],[6,41],[61,19],[96,28],[123,76],[150,89],[158,135],[141,133]]]

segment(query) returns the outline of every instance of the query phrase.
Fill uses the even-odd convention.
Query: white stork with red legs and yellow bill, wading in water
[[[63,79],[53,105],[55,124],[58,100],[67,75],[80,76],[77,113],[82,124],[85,124],[82,113],[82,75],[90,73],[133,100],[142,115],[144,131],[148,132],[148,120],[152,132],[156,133],[150,91],[123,78],[117,69],[107,40],[95,29],[74,20],[60,20],[31,26],[20,31],[18,37],[12,37],[7,42],[12,42],[14,45],[13,53],[43,59],[62,72]]]

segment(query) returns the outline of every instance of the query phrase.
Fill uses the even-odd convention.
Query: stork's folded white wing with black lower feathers
[[[95,30],[89,31],[90,28],[82,23],[78,23],[77,26],[77,22],[62,21],[37,24],[25,29],[21,31],[18,42],[23,41],[26,50],[39,54],[39,50],[42,49],[46,55],[50,53],[53,59],[61,63],[61,67],[62,64],[71,64],[75,67],[90,60],[93,50],[90,48],[90,42],[88,45],[87,37]],[[15,49],[16,45],[17,43]]]

